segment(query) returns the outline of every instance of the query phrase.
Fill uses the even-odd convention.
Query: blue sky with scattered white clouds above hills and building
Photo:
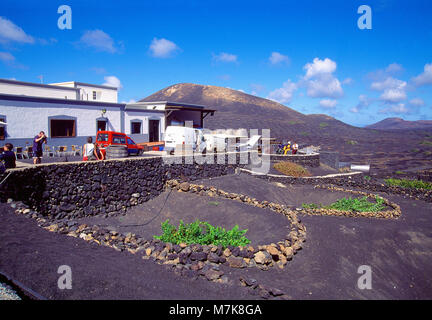
[[[428,0],[2,0],[0,78],[111,84],[120,101],[217,85],[358,126],[432,119],[431,14]]]

